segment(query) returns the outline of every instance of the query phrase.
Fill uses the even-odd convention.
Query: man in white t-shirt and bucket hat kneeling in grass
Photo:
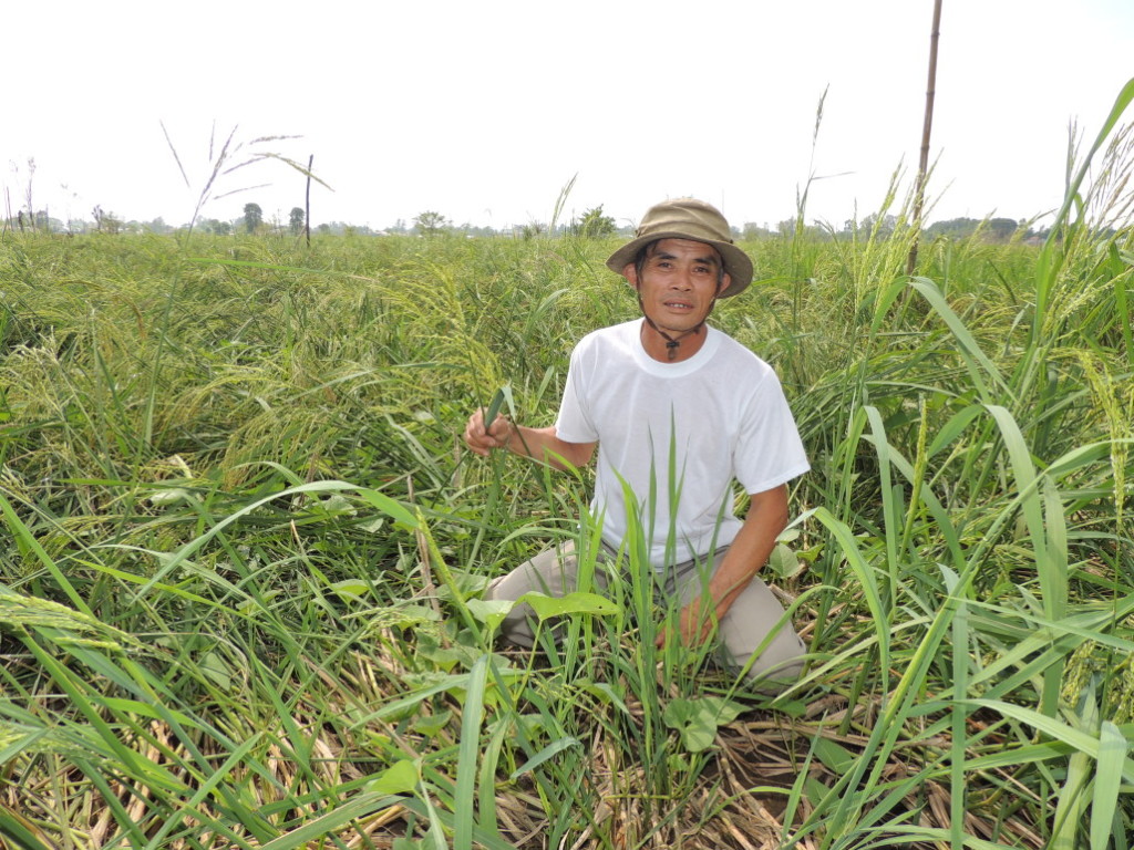
[[[579,341],[553,426],[498,418],[485,428],[477,410],[465,442],[477,454],[507,449],[560,469],[587,464],[598,447],[592,510],[603,546],[617,552],[636,513],[652,530],[658,586],[680,605],[659,646],[700,645],[718,627],[726,662],[780,687],[798,677],[805,648],[787,624],[753,658],[784,614],[756,572],[787,525],[787,482],[809,469],[807,458],[771,367],[705,324],[718,298],[752,281],[752,261],[714,207],[679,198],[651,207],[607,265],[637,291],[642,317]],[[751,498],[743,521],[733,513],[734,479]],[[575,570],[569,549],[543,552],[493,581],[486,598],[561,595],[574,589]],[[528,613],[513,610],[506,638],[532,644]]]

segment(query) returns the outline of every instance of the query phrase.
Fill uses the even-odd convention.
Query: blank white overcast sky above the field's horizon
[[[12,211],[34,158],[35,206],[56,218],[100,204],[185,222],[215,122],[246,143],[302,136],[261,150],[314,154],[333,192],[313,188],[313,223],[548,221],[577,173],[567,218],[603,204],[627,223],[694,195],[775,224],[813,170],[849,172],[815,181],[807,206],[841,227],[878,210],[899,167],[903,194],[912,182],[932,0],[29,0],[2,18]],[[1132,77],[1134,0],[945,0],[930,219],[1058,206],[1068,121],[1090,143]],[[278,162],[217,192],[261,182],[203,215],[303,206],[303,177]]]

